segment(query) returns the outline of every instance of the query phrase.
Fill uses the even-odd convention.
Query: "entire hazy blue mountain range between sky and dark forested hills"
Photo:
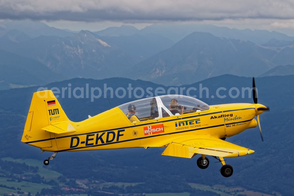
[[[294,38],[274,31],[154,24],[76,33],[32,21],[0,26],[0,49],[66,78],[128,77],[183,85],[222,74],[259,76],[294,62]]]

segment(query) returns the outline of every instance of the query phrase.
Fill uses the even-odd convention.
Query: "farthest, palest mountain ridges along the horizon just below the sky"
[[[0,36],[10,30],[18,30],[30,37],[44,36],[71,36],[76,31],[68,29],[57,29],[50,27],[43,22],[31,20],[4,20],[0,22]],[[104,30],[94,31],[98,36],[131,36],[133,34],[157,34],[164,36],[174,43],[180,41],[187,35],[193,32],[208,32],[217,37],[225,37],[231,39],[241,39],[252,41],[257,44],[264,44],[271,39],[293,41],[294,37],[287,36],[286,34],[277,31],[266,30],[251,30],[251,29],[230,29],[228,27],[221,27],[207,24],[152,24],[139,30],[131,25],[122,25],[120,27],[109,27]]]

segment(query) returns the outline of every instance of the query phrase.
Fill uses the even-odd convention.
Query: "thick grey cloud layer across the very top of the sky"
[[[1,0],[0,19],[87,22],[294,19],[294,2],[273,0]]]

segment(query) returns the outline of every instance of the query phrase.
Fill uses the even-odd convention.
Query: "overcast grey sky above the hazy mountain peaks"
[[[33,19],[71,30],[166,22],[294,31],[294,1],[272,0],[0,0],[0,19]]]

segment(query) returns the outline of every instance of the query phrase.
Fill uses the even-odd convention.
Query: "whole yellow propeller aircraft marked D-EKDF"
[[[206,169],[213,156],[223,165],[224,177],[233,174],[223,157],[254,153],[224,141],[225,138],[257,126],[254,117],[268,110],[257,103],[253,78],[253,100],[250,103],[208,106],[183,95],[163,95],[122,104],[81,122],[72,122],[52,91],[35,92],[21,142],[41,148],[42,152],[103,150],[133,147],[163,147],[162,155],[192,158],[201,155],[197,165]],[[181,105],[179,105],[181,104]],[[261,129],[260,135],[262,137]]]

